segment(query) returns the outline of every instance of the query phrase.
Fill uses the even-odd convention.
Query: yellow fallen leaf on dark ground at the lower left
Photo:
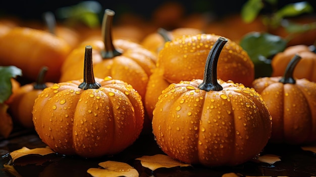
[[[16,159],[26,156],[26,155],[47,155],[51,153],[56,153],[53,150],[51,150],[49,147],[45,148],[34,148],[34,149],[29,149],[27,147],[22,147],[21,149],[12,151],[10,153],[10,156],[12,157],[12,161],[15,161]]]

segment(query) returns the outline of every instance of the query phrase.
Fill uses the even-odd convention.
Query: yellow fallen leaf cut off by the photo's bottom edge
[[[138,177],[138,171],[127,163],[117,161],[100,162],[103,168],[89,168],[87,172],[93,177]]]

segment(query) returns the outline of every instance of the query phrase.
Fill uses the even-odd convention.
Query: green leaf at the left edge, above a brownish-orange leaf
[[[0,103],[4,103],[12,94],[11,78],[22,76],[22,70],[15,66],[0,66]]]

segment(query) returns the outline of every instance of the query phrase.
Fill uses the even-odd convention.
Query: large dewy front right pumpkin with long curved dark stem
[[[237,165],[255,157],[271,135],[271,115],[253,89],[217,78],[227,39],[207,57],[204,78],[170,84],[153,110],[152,129],[169,156],[205,166]]]

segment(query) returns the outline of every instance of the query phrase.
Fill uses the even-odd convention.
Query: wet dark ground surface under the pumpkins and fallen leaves
[[[29,149],[45,147],[34,131],[20,131],[9,139],[0,141],[0,176],[14,176],[4,168],[10,161],[9,152],[22,147]],[[204,167],[193,165],[189,167],[159,168],[151,171],[143,167],[135,158],[143,155],[164,154],[154,141],[152,134],[142,134],[141,137],[123,152],[96,159],[70,157],[59,154],[49,154],[45,157],[28,156],[19,159],[12,166],[21,176],[90,176],[88,168],[99,167],[98,163],[114,160],[130,164],[138,170],[140,176],[222,176],[225,173],[235,173],[238,176],[316,176],[316,153],[304,151],[300,146],[268,144],[264,154],[280,156],[281,161],[274,164],[245,162],[232,167]],[[31,161],[34,161],[31,163]],[[35,163],[36,162],[36,163]]]

